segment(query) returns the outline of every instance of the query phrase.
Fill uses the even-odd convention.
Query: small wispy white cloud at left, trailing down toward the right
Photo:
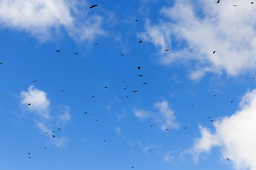
[[[68,106],[62,106],[60,110],[60,115],[50,114],[50,101],[47,98],[47,94],[44,91],[36,89],[33,85],[28,87],[28,91],[21,91],[20,94],[21,104],[26,106],[26,109],[34,113],[34,121],[36,127],[41,130],[43,134],[46,134],[50,141],[57,147],[65,145],[66,137],[55,137],[53,138],[53,125],[56,127],[60,123],[65,125],[68,120],[70,120],[70,108]],[[28,106],[28,103],[31,103]],[[60,122],[60,123],[59,123]],[[55,129],[57,130],[57,129]]]

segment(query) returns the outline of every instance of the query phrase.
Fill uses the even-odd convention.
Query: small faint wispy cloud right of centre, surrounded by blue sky
[[[134,115],[141,120],[153,118],[156,123],[161,125],[161,130],[166,130],[167,128],[178,128],[178,124],[175,123],[174,111],[169,108],[168,101],[155,103],[153,108],[158,109],[160,114],[156,114],[152,111],[135,110]]]

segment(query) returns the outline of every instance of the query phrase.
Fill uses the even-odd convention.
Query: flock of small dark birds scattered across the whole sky
[[[220,0],[217,1],[217,3],[220,3]],[[250,2],[250,4],[254,4],[254,2]],[[90,8],[95,8],[97,6],[97,4],[90,6]],[[237,5],[233,5],[233,6],[237,6]],[[138,20],[136,19],[135,22],[137,22]],[[139,44],[142,43],[142,40],[139,41]],[[97,43],[95,43],[95,45],[97,45]],[[165,49],[166,52],[168,52],[170,49]],[[56,50],[56,52],[60,52],[60,50]],[[216,53],[217,51],[213,51],[213,55]],[[75,52],[75,55],[78,55],[78,52]],[[122,56],[124,56],[124,53],[121,53]],[[0,64],[3,64],[2,62],[0,62]],[[141,66],[137,67],[138,70],[142,69]],[[142,74],[139,74],[139,77],[143,77]],[[253,78],[255,79],[255,77]],[[36,82],[36,80],[33,80],[33,83]],[[147,83],[144,82],[143,85],[146,85]],[[125,86],[124,89],[127,89],[128,86]],[[104,87],[105,89],[108,88],[108,86]],[[62,92],[64,92],[64,90],[61,90]],[[132,93],[138,93],[139,91],[135,90],[132,91]],[[213,95],[216,96],[216,95]],[[128,98],[129,96],[122,96],[122,98]],[[95,98],[95,96],[92,96],[92,98]],[[231,103],[233,103],[233,101],[231,101]],[[31,104],[33,103],[28,103],[28,106],[31,106]],[[193,106],[193,105],[192,105]],[[85,112],[84,114],[87,114],[88,112]],[[92,114],[94,115],[94,114]],[[210,117],[208,117],[208,119],[210,119]],[[98,120],[95,120],[96,122]],[[214,120],[210,120],[210,122],[213,122]],[[153,127],[153,125],[151,125],[151,127]],[[184,128],[184,130],[186,130],[187,127]],[[60,130],[60,128],[58,128],[58,130]],[[170,130],[169,128],[166,128],[166,130]],[[51,132],[46,132],[46,135],[50,134],[53,138],[55,138],[55,131]],[[106,140],[103,140],[103,142],[106,142]],[[47,149],[47,147],[45,147],[44,149]],[[151,152],[151,149],[149,149],[149,152]],[[29,155],[29,159],[31,159],[31,152],[28,152]],[[225,160],[230,161],[230,159],[226,158]],[[134,168],[134,166],[132,166],[132,169]]]

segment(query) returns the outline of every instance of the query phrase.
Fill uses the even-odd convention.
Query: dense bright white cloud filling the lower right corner
[[[220,147],[235,169],[256,169],[256,89],[247,92],[240,102],[240,110],[214,123],[215,132],[200,127],[201,138],[195,140],[191,153],[196,157]]]

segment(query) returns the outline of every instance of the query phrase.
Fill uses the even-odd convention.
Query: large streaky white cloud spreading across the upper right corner
[[[164,21],[146,24],[142,34],[159,48],[162,64],[181,62],[193,65],[192,79],[200,79],[206,72],[229,76],[255,69],[256,15],[249,0],[176,1],[170,8],[162,8]],[[169,52],[165,49],[171,49]],[[217,51],[213,55],[213,50]]]

